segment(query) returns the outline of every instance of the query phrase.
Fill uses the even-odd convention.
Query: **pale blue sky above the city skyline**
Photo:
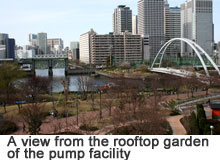
[[[65,46],[79,41],[93,28],[99,34],[112,32],[112,13],[126,5],[137,14],[138,0],[0,0],[0,33],[8,33],[17,45],[28,44],[29,33],[46,32],[62,38]],[[180,6],[185,0],[168,0]],[[214,2],[215,41],[220,41],[220,0]]]

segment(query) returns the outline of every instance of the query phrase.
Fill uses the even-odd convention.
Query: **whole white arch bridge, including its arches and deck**
[[[188,77],[188,76],[191,76],[193,74],[192,72],[188,72],[188,71],[185,71],[185,70],[161,68],[162,61],[163,61],[163,58],[164,58],[164,55],[165,55],[165,52],[166,52],[167,48],[175,41],[185,42],[195,51],[197,57],[199,58],[200,62],[202,63],[202,66],[204,68],[204,71],[205,71],[207,77],[210,77],[210,74],[209,74],[209,71],[208,71],[208,67],[205,64],[205,61],[203,59],[203,55],[207,58],[207,60],[211,63],[211,65],[215,68],[215,70],[220,75],[220,70],[219,70],[218,66],[215,64],[215,62],[212,60],[212,58],[209,56],[209,54],[204,49],[202,49],[202,47],[200,47],[198,44],[196,44],[192,40],[189,40],[189,39],[186,39],[186,38],[173,38],[173,39],[169,40],[168,42],[166,42],[163,45],[163,47],[159,50],[159,52],[157,53],[157,55],[156,55],[156,57],[155,57],[155,59],[152,63],[152,66],[150,68],[150,70],[152,72],[171,74],[171,75],[180,76],[180,77]],[[156,63],[156,61],[158,59],[160,60],[160,62]],[[154,68],[154,66],[156,64],[159,65],[159,68]],[[200,77],[201,75],[197,74],[197,76]]]

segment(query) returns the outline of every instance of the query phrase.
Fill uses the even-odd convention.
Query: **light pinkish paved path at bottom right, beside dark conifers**
[[[180,122],[181,118],[183,118],[183,115],[172,116],[172,117],[167,118],[167,121],[170,123],[170,126],[173,130],[173,135],[186,135],[187,134],[185,128]]]

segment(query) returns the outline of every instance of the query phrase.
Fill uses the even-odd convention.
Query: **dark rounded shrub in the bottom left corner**
[[[14,122],[4,121],[0,126],[0,135],[7,135],[17,131],[17,126]]]

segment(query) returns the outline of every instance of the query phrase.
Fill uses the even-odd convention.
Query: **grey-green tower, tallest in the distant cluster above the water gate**
[[[47,54],[47,33],[37,34],[38,54]]]

